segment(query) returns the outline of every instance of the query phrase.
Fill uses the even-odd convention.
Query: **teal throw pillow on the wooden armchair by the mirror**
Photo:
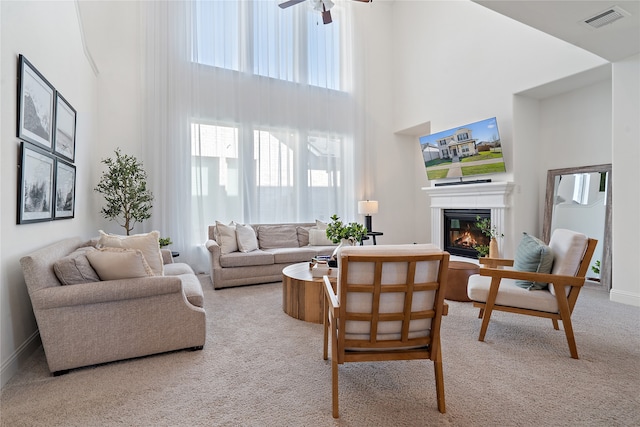
[[[553,267],[553,251],[542,240],[522,233],[522,240],[516,250],[513,268],[518,271],[535,273],[551,273]],[[546,289],[548,283],[530,280],[516,280],[516,285],[529,290]]]

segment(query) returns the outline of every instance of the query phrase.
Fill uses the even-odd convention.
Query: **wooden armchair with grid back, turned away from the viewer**
[[[429,359],[445,412],[440,322],[449,254],[434,245],[351,246],[338,254],[337,292],[324,277],[324,360],[331,331],[333,416],[338,365]]]

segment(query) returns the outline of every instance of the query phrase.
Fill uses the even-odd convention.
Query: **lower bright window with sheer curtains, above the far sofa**
[[[247,222],[326,219],[339,209],[340,137],[204,123],[191,131],[194,203]]]

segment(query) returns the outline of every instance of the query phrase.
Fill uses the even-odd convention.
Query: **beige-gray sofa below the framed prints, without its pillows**
[[[204,295],[191,267],[173,263],[171,253],[163,251],[164,276],[62,285],[56,262],[90,245],[68,238],[20,259],[54,375],[204,346]]]

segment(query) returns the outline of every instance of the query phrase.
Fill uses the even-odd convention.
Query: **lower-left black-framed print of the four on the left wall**
[[[21,143],[18,224],[53,219],[55,157],[35,144]]]

